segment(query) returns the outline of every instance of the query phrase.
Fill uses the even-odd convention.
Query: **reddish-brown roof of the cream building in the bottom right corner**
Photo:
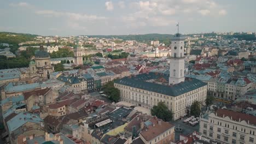
[[[218,117],[229,117],[233,121],[246,121],[249,124],[254,124],[256,125],[256,116],[248,115],[246,113],[241,113],[241,112],[235,112],[227,109],[218,109],[216,111],[216,116]]]

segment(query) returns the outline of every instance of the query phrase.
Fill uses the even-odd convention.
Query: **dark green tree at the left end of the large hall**
[[[119,100],[120,90],[114,87],[114,81],[107,82],[102,88],[104,93],[108,95],[109,100],[114,101],[115,103]]]

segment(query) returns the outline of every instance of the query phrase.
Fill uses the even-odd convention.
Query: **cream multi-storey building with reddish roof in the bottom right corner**
[[[200,117],[200,133],[218,144],[250,144],[256,141],[256,117],[218,109]]]

